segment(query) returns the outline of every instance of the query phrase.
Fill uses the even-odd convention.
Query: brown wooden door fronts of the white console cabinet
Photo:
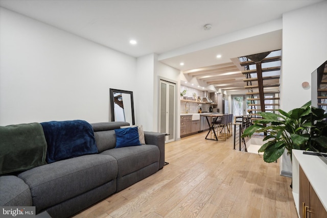
[[[299,166],[299,211],[300,218],[327,217],[327,211],[320,202],[306,174]]]

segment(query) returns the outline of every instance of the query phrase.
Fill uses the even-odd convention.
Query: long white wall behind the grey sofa
[[[107,122],[109,88],[135,90],[133,57],[3,8],[0,28],[2,126]]]

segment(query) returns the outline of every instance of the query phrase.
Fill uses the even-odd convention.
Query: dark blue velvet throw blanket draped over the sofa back
[[[41,123],[48,144],[46,162],[98,153],[92,126],[84,120]]]

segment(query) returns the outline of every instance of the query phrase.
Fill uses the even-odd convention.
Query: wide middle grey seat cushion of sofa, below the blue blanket
[[[36,212],[115,180],[116,160],[107,155],[84,155],[35,167],[18,175],[31,189]]]

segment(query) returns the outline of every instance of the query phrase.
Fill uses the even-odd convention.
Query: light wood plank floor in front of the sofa
[[[279,163],[205,134],[167,143],[164,169],[75,217],[297,217]]]

